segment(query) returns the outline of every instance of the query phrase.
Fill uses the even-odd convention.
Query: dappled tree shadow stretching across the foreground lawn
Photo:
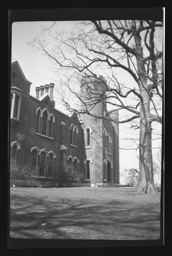
[[[160,204],[11,195],[12,238],[147,240],[160,237]],[[41,225],[46,224],[46,225]]]

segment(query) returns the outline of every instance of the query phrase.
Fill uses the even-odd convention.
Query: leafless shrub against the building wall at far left
[[[10,179],[33,181],[33,175],[35,170],[32,170],[30,165],[18,165],[14,158],[10,158]]]

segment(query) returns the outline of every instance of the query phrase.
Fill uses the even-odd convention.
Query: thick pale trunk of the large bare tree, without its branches
[[[153,160],[152,160],[152,128],[150,118],[151,96],[147,91],[146,70],[144,66],[143,48],[141,37],[134,34],[136,50],[137,70],[139,76],[139,90],[141,95],[140,105],[140,137],[139,137],[139,185],[137,193],[157,193],[154,184]]]

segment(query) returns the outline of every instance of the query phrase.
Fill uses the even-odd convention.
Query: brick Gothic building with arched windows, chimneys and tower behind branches
[[[54,84],[36,87],[25,78],[18,61],[11,66],[10,154],[19,165],[31,165],[40,181],[65,181],[65,165],[95,183],[119,183],[118,124],[87,114],[70,116],[55,108]],[[102,90],[98,79],[83,80],[81,92],[90,103],[89,88]],[[92,110],[107,112],[106,102]],[[118,112],[111,116],[118,119]]]

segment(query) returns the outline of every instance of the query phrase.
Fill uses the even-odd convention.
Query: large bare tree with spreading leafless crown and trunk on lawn
[[[80,105],[74,106],[62,94],[70,112],[118,123],[132,121],[132,128],[139,129],[138,193],[157,193],[153,175],[152,122],[162,123],[162,27],[161,22],[150,20],[92,20],[78,22],[71,34],[49,33],[53,47],[40,38],[30,42],[56,63],[58,74],[63,75],[63,86],[80,100]],[[101,71],[104,78],[97,78],[97,71]],[[121,82],[119,74],[130,77],[130,83]],[[102,83],[100,91],[89,88],[89,104],[80,94],[79,86],[76,87],[78,81],[86,83],[88,79]],[[96,116],[92,109],[104,100],[108,111]],[[128,116],[114,120],[112,114],[117,109],[125,110]]]

